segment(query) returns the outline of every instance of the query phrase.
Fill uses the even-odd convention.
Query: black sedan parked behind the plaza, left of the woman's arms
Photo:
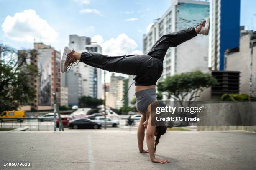
[[[74,128],[74,129],[79,129],[79,128],[99,129],[101,127],[100,123],[93,122],[92,120],[87,118],[70,120],[68,125],[70,128]]]

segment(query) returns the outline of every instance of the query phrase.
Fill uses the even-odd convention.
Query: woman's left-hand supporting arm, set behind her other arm
[[[143,126],[143,122],[146,121],[146,116],[141,115],[141,120],[138,124],[138,131],[137,131],[137,139],[138,139],[138,148],[141,153],[148,153],[148,150],[144,150],[144,137],[145,137],[145,128]]]

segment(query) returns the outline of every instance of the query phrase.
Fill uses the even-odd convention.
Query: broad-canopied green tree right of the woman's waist
[[[186,72],[168,76],[157,84],[159,92],[167,92],[168,98],[177,100],[181,106],[187,101],[187,106],[200,96],[208,87],[217,84],[215,77],[200,71]]]

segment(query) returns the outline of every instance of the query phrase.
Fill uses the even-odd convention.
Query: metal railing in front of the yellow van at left
[[[21,121],[20,121],[21,120]],[[37,120],[37,121],[35,121]],[[42,121],[43,120],[43,121]],[[38,117],[1,117],[0,127],[20,128],[28,126],[28,130],[54,130],[53,120],[44,120]]]

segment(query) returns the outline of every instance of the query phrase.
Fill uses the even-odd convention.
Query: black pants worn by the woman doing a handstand
[[[163,72],[164,56],[169,47],[197,36],[190,27],[159,38],[146,55],[122,55],[111,57],[97,52],[82,52],[81,62],[110,72],[135,75],[135,85],[155,85]]]

